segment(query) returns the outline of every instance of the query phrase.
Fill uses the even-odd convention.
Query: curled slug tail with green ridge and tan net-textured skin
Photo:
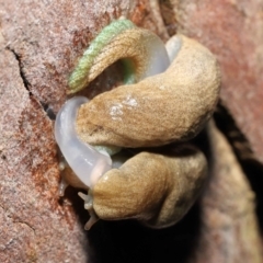
[[[124,62],[126,84],[163,72],[170,65],[162,41],[125,19],[113,21],[90,44],[69,78],[68,93],[85,88],[117,60]]]

